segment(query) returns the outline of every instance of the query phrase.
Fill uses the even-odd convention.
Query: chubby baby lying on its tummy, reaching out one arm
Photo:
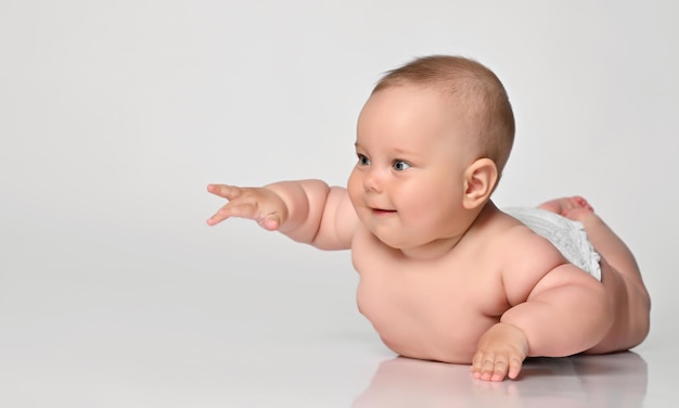
[[[322,250],[350,248],[359,310],[384,344],[406,357],[471,364],[477,379],[515,379],[528,356],[638,345],[649,332],[649,294],[632,254],[587,201],[550,201],[524,219],[547,226],[545,235],[554,229],[550,238],[490,200],[513,139],[512,109],[492,72],[463,58],[418,59],[387,73],[366,102],[346,189],[320,180],[209,184],[229,202],[207,224],[249,218]],[[589,239],[593,270],[552,243],[577,233]]]

